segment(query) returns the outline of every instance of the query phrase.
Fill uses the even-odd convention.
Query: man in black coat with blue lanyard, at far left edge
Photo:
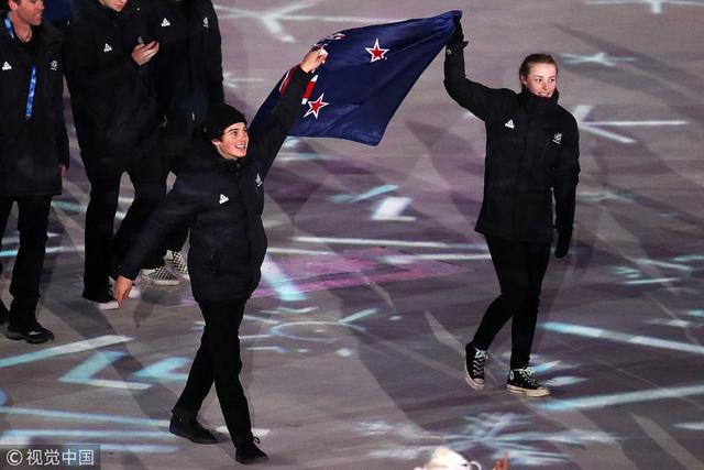
[[[69,163],[62,43],[58,31],[42,20],[42,2],[7,4],[10,10],[0,12],[0,240],[13,203],[20,231],[7,336],[41,343],[54,339],[35,314],[48,211]],[[7,319],[0,302],[0,324]]]

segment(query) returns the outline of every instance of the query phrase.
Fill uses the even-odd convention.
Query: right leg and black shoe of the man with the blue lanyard
[[[46,228],[51,196],[18,198],[20,249],[12,270],[10,323],[8,337],[31,343],[52,341],[54,335],[36,321],[40,280],[46,252]]]

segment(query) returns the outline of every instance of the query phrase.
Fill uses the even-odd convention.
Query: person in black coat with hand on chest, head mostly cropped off
[[[76,7],[64,57],[80,156],[90,182],[82,296],[110,309],[118,304],[109,275],[166,192],[156,149],[158,114],[151,69],[158,43],[144,41],[147,18],[139,0],[78,0]],[[124,172],[134,186],[134,200],[113,236]],[[142,267],[158,273],[165,271],[163,264],[154,254]]]

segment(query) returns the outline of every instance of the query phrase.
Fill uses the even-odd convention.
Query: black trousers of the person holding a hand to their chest
[[[152,149],[155,150],[155,145]],[[109,285],[108,276],[120,265],[150,214],[163,200],[166,189],[162,178],[162,161],[155,151],[145,152],[143,157],[134,160],[127,167],[98,162],[99,160],[84,157],[90,182],[90,201],[86,211],[84,297],[95,299],[105,296]],[[120,179],[124,172],[134,186],[134,200],[114,232]],[[163,264],[160,253],[154,253],[142,267]]]

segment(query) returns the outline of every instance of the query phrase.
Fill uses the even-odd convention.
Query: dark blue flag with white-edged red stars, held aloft
[[[344,30],[322,39],[317,46],[330,58],[315,72],[289,134],[378,144],[400,102],[452,35],[455,17],[462,12]],[[289,73],[260,108],[251,133],[276,105]]]

